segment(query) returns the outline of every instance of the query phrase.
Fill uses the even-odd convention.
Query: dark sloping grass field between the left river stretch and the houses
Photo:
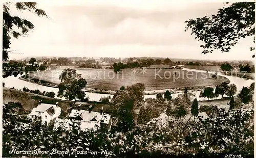
[[[55,98],[50,98],[38,94],[33,94],[29,92],[23,92],[15,89],[10,89],[3,87],[3,103],[8,102],[20,102],[22,103],[24,109],[27,111],[31,111],[33,108],[36,108],[38,106],[39,101],[42,100],[43,103],[50,103],[55,104],[56,102],[59,102],[59,107],[65,111],[67,114],[70,113],[70,107],[73,104],[72,101],[65,101]],[[104,104],[100,102],[75,102],[75,106],[77,104],[81,103],[81,108],[84,110],[87,110],[89,104],[94,105],[93,111],[100,112],[100,108],[103,107],[104,111],[107,112],[109,109],[109,104]]]

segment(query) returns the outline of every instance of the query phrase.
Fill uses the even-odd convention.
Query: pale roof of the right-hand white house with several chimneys
[[[91,113],[89,113],[89,111],[87,111],[87,110],[80,110],[80,111],[78,111],[78,110],[75,110],[75,109],[73,109],[72,111],[71,111],[71,113],[70,113],[70,117],[76,117],[76,116],[78,116],[78,115],[80,115],[80,117],[82,118],[82,120],[83,121],[103,121],[103,123],[106,123],[106,124],[108,124],[109,123],[109,121],[110,121],[110,115],[109,114],[104,114],[104,113],[102,113],[102,115],[100,114],[100,113],[98,113],[98,112],[91,112]]]

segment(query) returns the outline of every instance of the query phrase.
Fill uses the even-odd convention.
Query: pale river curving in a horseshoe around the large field
[[[206,72],[203,70],[197,70],[197,69],[188,69],[188,68],[183,68],[183,70],[186,71],[194,71],[194,72]],[[208,71],[208,73],[212,73],[215,74],[216,72],[210,72]],[[236,76],[228,76],[228,75],[223,75],[220,72],[217,72],[218,75],[220,76],[224,76],[226,78],[228,78],[228,80],[230,81],[229,84],[235,84],[238,88],[238,93],[239,91],[242,90],[243,86],[250,86],[251,83],[254,82],[254,80],[245,80],[243,78],[240,77],[236,77]],[[47,91],[47,92],[54,92],[55,94],[58,94],[58,89],[57,88],[53,88],[53,87],[47,87],[47,86],[42,86],[42,85],[37,85],[31,82],[27,82],[27,81],[23,81],[23,80],[19,80],[20,75],[18,75],[17,77],[14,76],[9,76],[7,78],[3,78],[3,82],[5,83],[5,87],[8,88],[15,88],[15,89],[23,89],[24,87],[27,87],[30,90],[35,90],[38,89],[41,92],[42,91]],[[199,97],[200,91],[192,91],[198,100],[201,100],[201,98]],[[172,97],[175,98],[179,95],[180,93],[173,93]],[[91,101],[99,101],[99,99],[101,97],[106,97],[106,96],[111,96],[113,97],[112,94],[98,94],[98,93],[92,93],[92,92],[86,92],[86,95],[89,96],[89,100]],[[55,95],[55,98],[58,99],[65,99],[65,98],[59,98]],[[156,98],[156,94],[150,94],[150,95],[144,95],[144,98]],[[221,96],[219,96],[218,98],[221,98]],[[204,99],[202,99],[204,100]],[[206,100],[206,98],[205,98]]]

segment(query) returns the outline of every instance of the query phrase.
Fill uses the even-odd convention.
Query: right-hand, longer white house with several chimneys
[[[101,107],[100,113],[93,112],[91,106],[89,110],[75,110],[73,109],[69,115],[69,119],[56,119],[54,123],[54,129],[57,127],[62,127],[63,129],[70,130],[72,121],[81,121],[81,130],[85,131],[87,129],[97,129],[97,126],[100,127],[100,123],[103,124],[112,124],[111,115],[103,113],[103,107]]]

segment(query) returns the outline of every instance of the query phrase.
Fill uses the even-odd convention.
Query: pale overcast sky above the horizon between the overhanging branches
[[[252,38],[243,39],[230,52],[201,54],[201,42],[185,32],[185,20],[216,14],[216,3],[170,1],[103,1],[73,5],[38,3],[50,17],[38,17],[11,7],[11,14],[30,20],[28,37],[12,39],[10,58],[62,57],[169,57],[210,60],[251,60]],[[101,3],[99,3],[101,2]],[[128,3],[129,2],[129,3]]]

